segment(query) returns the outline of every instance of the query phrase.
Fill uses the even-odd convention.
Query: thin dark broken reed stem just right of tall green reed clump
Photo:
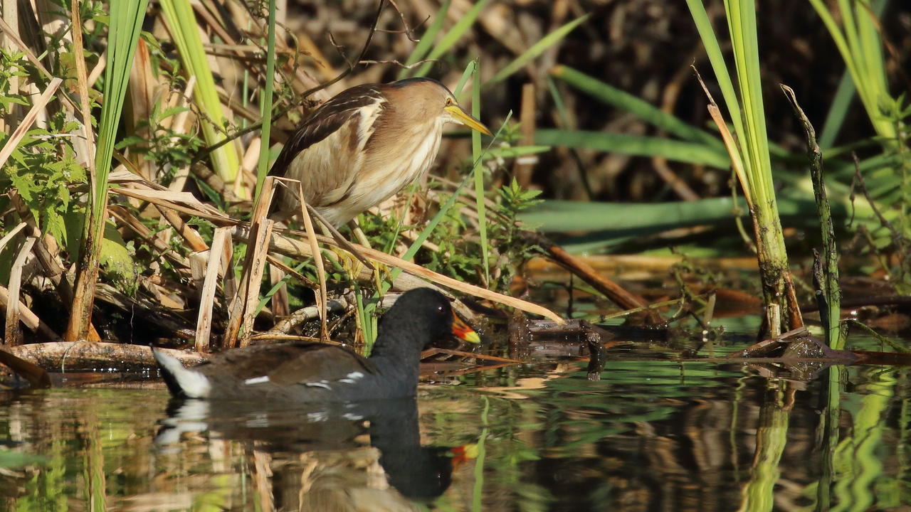
[[[810,159],[810,178],[813,180],[814,199],[816,200],[816,214],[819,216],[820,230],[822,230],[823,259],[821,265],[822,275],[817,275],[816,267],[818,253],[814,251],[814,278],[819,280],[816,289],[819,313],[825,329],[825,343],[839,350],[844,345],[839,320],[841,318],[842,292],[838,284],[838,249],[835,245],[835,229],[832,221],[832,210],[829,199],[825,193],[823,179],[823,151],[816,143],[816,130],[810,119],[804,114],[804,109],[797,103],[797,97],[791,87],[781,84],[784,96],[788,98],[793,108],[794,116],[800,121],[806,136],[806,153]]]

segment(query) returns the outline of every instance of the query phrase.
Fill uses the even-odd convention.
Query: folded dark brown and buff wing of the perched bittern
[[[353,184],[359,167],[359,150],[372,133],[370,124],[383,101],[377,85],[366,84],[347,89],[323,103],[304,118],[281,148],[269,174],[300,179],[304,199],[311,206],[327,206],[341,200]],[[364,119],[364,116],[373,118]],[[280,187],[272,210],[297,208],[293,194]],[[293,213],[289,211],[288,216]]]

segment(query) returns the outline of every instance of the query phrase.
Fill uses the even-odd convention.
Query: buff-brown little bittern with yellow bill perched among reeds
[[[352,87],[303,120],[269,174],[300,179],[303,199],[338,227],[423,176],[449,122],[491,135],[436,80]],[[276,194],[274,218],[300,211],[292,190]]]

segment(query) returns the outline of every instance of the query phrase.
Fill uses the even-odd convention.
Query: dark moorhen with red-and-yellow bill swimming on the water
[[[414,395],[421,351],[447,333],[480,341],[442,293],[418,288],[386,312],[369,358],[326,343],[276,343],[230,350],[185,368],[166,353],[152,353],[171,394],[183,398],[352,402]]]

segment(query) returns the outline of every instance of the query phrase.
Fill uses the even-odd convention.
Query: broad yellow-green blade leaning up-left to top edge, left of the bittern
[[[202,47],[196,15],[189,5],[189,0],[161,0],[159,4],[171,36],[174,37],[174,44],[178,48],[184,68],[189,75],[196,77],[193,102],[203,114],[203,117],[200,118],[202,135],[209,146],[218,144],[226,138],[221,131],[224,127],[225,115],[215,88],[215,79],[212,77],[205,48]],[[212,151],[211,159],[212,167],[220,178],[227,183],[233,183],[234,193],[242,198],[249,197],[247,190],[242,187],[243,183],[238,179],[241,164],[234,144],[225,144]]]

